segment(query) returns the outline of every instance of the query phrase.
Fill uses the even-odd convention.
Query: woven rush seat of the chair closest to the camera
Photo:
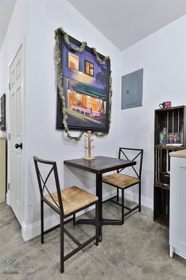
[[[51,196],[59,206],[58,193],[53,192],[51,193]],[[56,206],[56,203],[53,201],[51,196],[48,194],[45,195],[44,198],[46,198],[50,203]],[[76,186],[61,190],[61,198],[63,201],[64,216],[69,215],[70,213],[98,200],[97,196],[92,195],[85,190],[81,190]]]

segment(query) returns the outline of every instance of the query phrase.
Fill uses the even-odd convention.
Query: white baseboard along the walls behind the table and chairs
[[[116,195],[116,190],[106,193],[105,195],[103,195],[103,201],[106,199],[109,199],[110,197],[112,197],[114,195]],[[121,195],[121,194],[119,194],[119,195]],[[138,195],[133,192],[129,192],[126,190],[125,197],[131,201],[138,202]],[[146,197],[141,197],[141,204],[150,209],[153,209],[153,200],[151,200],[151,199],[148,199]],[[76,217],[78,217],[78,216],[82,215],[83,213],[90,211],[94,208],[95,207],[93,205],[83,211],[80,211],[76,214]],[[58,225],[59,223],[60,223],[60,217],[58,214],[55,214],[52,217],[46,218],[46,219],[44,219],[44,230],[54,227],[54,226]],[[26,226],[24,222],[22,223],[22,237],[23,237],[24,241],[28,241],[40,234],[41,234],[41,222],[37,222],[37,223],[34,223],[29,226]]]

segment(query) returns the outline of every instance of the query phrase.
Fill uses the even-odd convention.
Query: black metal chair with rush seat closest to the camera
[[[58,171],[55,161],[41,160],[34,156],[35,169],[37,173],[37,180],[40,188],[41,194],[41,243],[44,243],[44,234],[50,232],[51,230],[60,227],[60,270],[61,273],[64,272],[64,261],[70,258],[72,255],[77,253],[79,250],[84,248],[90,242],[96,240],[96,246],[98,246],[99,238],[99,227],[98,227],[98,197],[90,194],[80,188],[73,186],[64,190],[60,190]],[[43,167],[40,165],[44,165]],[[38,168],[40,166],[40,169]],[[49,173],[46,174],[47,166],[49,167]],[[41,169],[42,168],[42,169]],[[42,171],[41,171],[42,170]],[[52,172],[53,171],[53,172]],[[44,176],[45,181],[43,180],[42,175]],[[53,181],[51,174],[54,175]],[[50,177],[50,179],[49,179]],[[46,186],[46,183],[48,184]],[[55,186],[54,186],[55,185]],[[57,189],[55,192],[51,192],[53,189]],[[49,191],[50,190],[50,191]],[[44,191],[47,192],[47,195],[44,195]],[[52,227],[46,231],[43,228],[43,202],[49,205],[56,213],[60,215],[60,224]],[[90,207],[95,204],[96,207],[96,234],[88,239],[86,242],[81,244],[69,231],[64,227],[64,224],[73,220],[73,225],[75,226],[75,214],[87,207]],[[68,220],[64,221],[64,218],[72,216]],[[64,232],[76,243],[78,246],[69,254],[64,256]]]

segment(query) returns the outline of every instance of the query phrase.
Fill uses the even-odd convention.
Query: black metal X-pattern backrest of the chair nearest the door
[[[60,191],[60,184],[59,184],[59,178],[58,178],[58,171],[57,171],[56,162],[55,161],[49,161],[49,160],[41,160],[40,158],[34,156],[34,163],[35,163],[35,169],[36,169],[36,174],[37,174],[37,181],[38,181],[38,184],[39,184],[41,197],[44,196],[44,191],[46,191],[47,194],[49,194],[50,197],[52,198],[52,200],[55,202],[55,200],[51,196],[51,193],[52,192],[56,192],[56,190],[57,190],[59,206],[55,202],[56,208],[61,210],[62,213],[63,213],[63,205],[62,205],[62,198],[61,198],[61,191]],[[40,165],[40,168],[38,167],[38,163]],[[46,165],[48,165],[49,173],[47,171],[47,175],[46,175],[46,170],[43,171],[43,168],[42,168],[42,171],[41,171],[41,165],[45,165],[45,167],[46,167]],[[42,175],[41,175],[41,172],[42,172]],[[53,190],[50,191],[53,188],[54,184],[51,185],[51,183],[48,182],[49,185],[46,186],[46,183],[47,183],[49,177],[52,176],[52,175],[55,178],[55,188],[54,188],[55,190],[54,191]],[[44,176],[44,178],[46,178],[46,179],[44,180],[42,178],[42,176]],[[51,207],[53,208],[53,204],[49,203],[49,205],[51,205]]]

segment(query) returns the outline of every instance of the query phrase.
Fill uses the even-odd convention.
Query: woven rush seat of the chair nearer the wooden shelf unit
[[[104,183],[109,183],[117,186],[118,188],[124,189],[130,185],[137,184],[140,182],[138,178],[126,176],[120,173],[114,173],[102,177]]]

